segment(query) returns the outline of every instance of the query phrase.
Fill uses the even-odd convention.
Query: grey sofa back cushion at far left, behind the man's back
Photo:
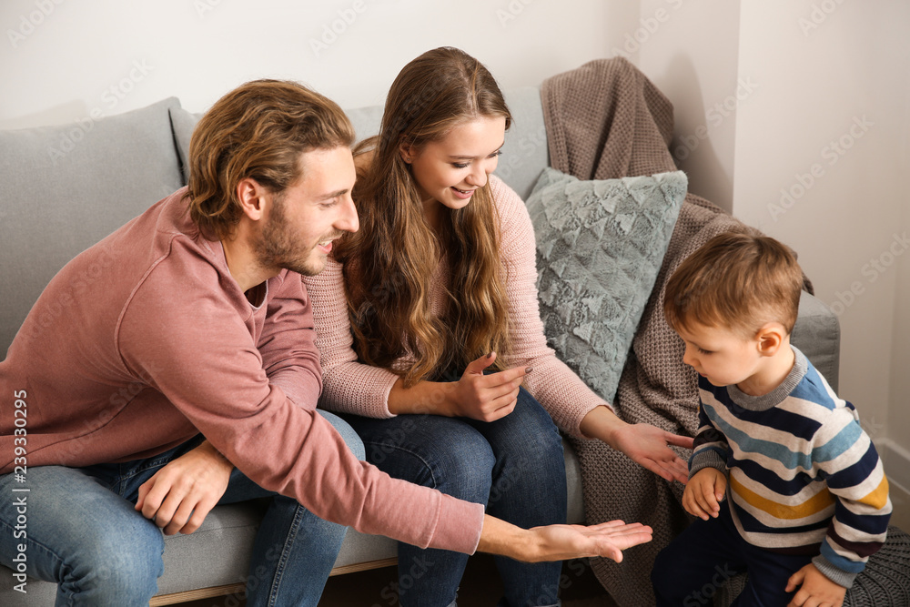
[[[181,187],[179,105],[0,131],[0,357],[67,261]]]

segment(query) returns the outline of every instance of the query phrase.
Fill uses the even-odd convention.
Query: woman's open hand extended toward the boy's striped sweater
[[[692,449],[693,439],[651,424],[628,424],[608,407],[595,407],[581,420],[585,436],[603,440],[665,481],[689,480],[689,466],[669,445]]]

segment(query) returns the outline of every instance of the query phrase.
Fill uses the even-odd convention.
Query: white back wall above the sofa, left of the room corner
[[[620,5],[4,0],[0,128],[66,123],[95,108],[119,114],[166,96],[198,112],[258,77],[306,82],[344,107],[380,104],[401,66],[447,45],[478,57],[503,87],[538,85],[606,56],[602,31]]]

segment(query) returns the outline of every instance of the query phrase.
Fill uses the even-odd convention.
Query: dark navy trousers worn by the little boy
[[[732,605],[777,607],[793,599],[796,592],[784,591],[787,580],[810,561],[810,554],[780,554],[743,540],[722,501],[716,519],[696,519],[657,555],[651,582],[659,606],[710,607],[727,580],[748,572],[745,589]]]

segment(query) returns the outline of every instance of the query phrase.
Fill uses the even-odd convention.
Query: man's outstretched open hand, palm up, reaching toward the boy
[[[562,561],[602,556],[622,561],[622,551],[651,541],[652,529],[640,522],[602,522],[599,525],[549,525],[523,530],[484,516],[479,551],[509,556],[517,561]]]

